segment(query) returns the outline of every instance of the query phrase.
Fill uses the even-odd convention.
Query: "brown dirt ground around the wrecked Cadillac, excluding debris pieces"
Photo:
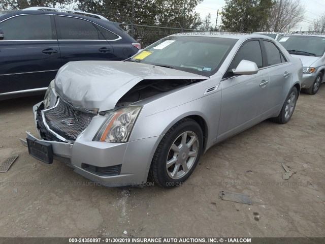
[[[32,105],[0,102],[2,237],[324,237],[325,85],[301,94],[286,125],[270,121],[210,148],[181,187],[105,188],[61,163],[41,163],[19,138],[36,134]],[[284,163],[295,172],[282,179]],[[251,196],[223,201],[221,190]],[[127,234],[123,234],[124,230]]]

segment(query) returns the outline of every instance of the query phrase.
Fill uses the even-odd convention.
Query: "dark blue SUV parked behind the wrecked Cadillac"
[[[45,92],[70,61],[123,60],[139,49],[100,15],[42,7],[0,12],[0,100]]]

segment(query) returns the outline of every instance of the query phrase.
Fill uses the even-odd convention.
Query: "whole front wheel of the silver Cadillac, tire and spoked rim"
[[[180,186],[197,166],[202,147],[203,133],[199,124],[189,118],[181,119],[165,134],[157,146],[149,178],[160,187]]]

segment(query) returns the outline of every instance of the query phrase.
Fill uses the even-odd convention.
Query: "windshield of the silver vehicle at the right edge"
[[[290,54],[322,56],[325,51],[324,37],[285,36],[279,42]]]

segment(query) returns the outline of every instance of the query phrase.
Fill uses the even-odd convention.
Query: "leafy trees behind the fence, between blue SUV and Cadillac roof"
[[[193,11],[203,0],[86,0],[79,9],[115,22],[196,28],[200,15]]]

